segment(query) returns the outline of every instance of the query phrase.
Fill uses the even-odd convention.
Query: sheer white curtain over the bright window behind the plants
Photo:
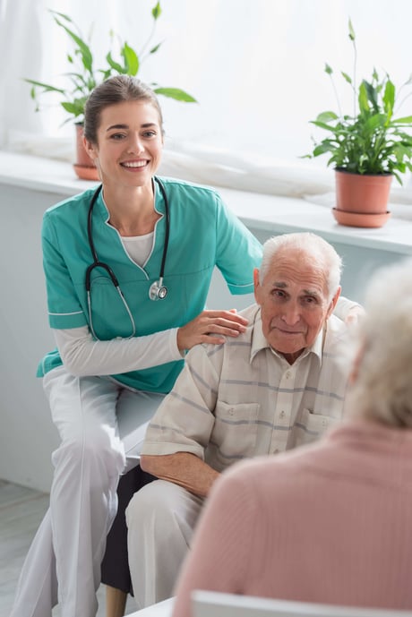
[[[70,124],[57,107],[35,114],[21,77],[56,83],[67,70],[64,36],[48,8],[69,14],[92,47],[107,53],[110,29],[139,50],[155,0],[0,0],[0,46],[10,58],[1,73],[0,140],[6,149],[70,158]],[[162,0],[157,54],[142,64],[144,81],[188,90],[198,104],[161,98],[166,122],[164,173],[266,193],[330,190],[326,160],[303,161],[311,148],[309,120],[336,109],[325,62],[352,73],[348,18],[356,30],[358,74],[375,66],[397,85],[412,63],[410,0]],[[13,34],[12,34],[13,32]],[[98,63],[99,64],[99,63]],[[351,108],[351,107],[350,107]],[[412,114],[408,99],[402,115]]]

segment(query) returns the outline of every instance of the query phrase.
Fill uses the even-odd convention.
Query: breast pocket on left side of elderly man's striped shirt
[[[253,457],[259,409],[258,403],[228,404],[218,401],[211,441],[225,465],[238,458]]]

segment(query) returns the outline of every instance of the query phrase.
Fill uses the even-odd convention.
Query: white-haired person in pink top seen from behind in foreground
[[[412,610],[412,261],[369,288],[346,420],[214,484],[176,588]]]

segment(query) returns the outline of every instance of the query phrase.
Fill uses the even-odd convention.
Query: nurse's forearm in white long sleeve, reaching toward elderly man
[[[94,340],[87,326],[53,332],[65,368],[78,377],[128,373],[182,359],[176,329],[113,340]]]

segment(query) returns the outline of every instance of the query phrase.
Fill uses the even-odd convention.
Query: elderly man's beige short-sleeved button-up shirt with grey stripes
[[[264,338],[259,306],[242,314],[244,334],[188,353],[142,454],[191,452],[222,471],[240,458],[314,441],[339,421],[348,381],[343,321],[332,315],[313,346],[288,364]]]

